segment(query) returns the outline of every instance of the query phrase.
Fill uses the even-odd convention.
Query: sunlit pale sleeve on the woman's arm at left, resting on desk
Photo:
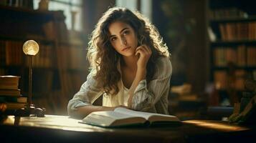
[[[92,105],[102,94],[103,91],[101,88],[97,87],[97,82],[93,78],[93,72],[91,71],[87,76],[87,81],[82,84],[80,91],[77,92],[67,104],[67,113],[70,114],[74,112],[77,107]]]

